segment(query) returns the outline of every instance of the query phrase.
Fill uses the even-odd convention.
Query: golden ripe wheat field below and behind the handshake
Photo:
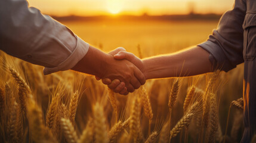
[[[123,45],[142,58],[203,42],[217,26],[63,23],[105,52]],[[243,65],[228,73],[148,80],[127,96],[87,74],[44,76],[42,69],[1,52],[1,142],[239,142],[242,136]]]

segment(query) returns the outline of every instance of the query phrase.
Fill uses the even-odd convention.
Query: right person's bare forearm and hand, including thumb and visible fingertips
[[[131,61],[138,69],[140,69],[146,79],[158,79],[164,77],[177,76],[194,76],[197,74],[208,73],[214,70],[209,60],[209,52],[196,46],[186,49],[175,54],[158,55],[156,57],[145,58],[140,60],[131,52],[119,51],[114,55],[115,59],[126,59]],[[102,79],[103,83],[108,85],[115,92],[122,90],[118,81],[110,79]]]

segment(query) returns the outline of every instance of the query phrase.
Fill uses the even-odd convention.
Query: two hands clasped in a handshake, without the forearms
[[[103,74],[95,76],[114,92],[127,95],[146,82],[144,65],[140,58],[119,47],[109,52],[107,64],[102,65]]]

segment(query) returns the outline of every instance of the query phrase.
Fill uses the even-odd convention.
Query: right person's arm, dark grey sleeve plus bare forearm
[[[235,68],[236,65],[243,63],[242,24],[245,14],[245,0],[235,0],[233,10],[227,11],[221,17],[218,29],[214,30],[212,35],[209,36],[208,41],[198,45],[208,53],[197,47],[177,54],[143,60],[143,63],[147,65],[143,68],[149,71],[149,73],[145,73],[146,78],[179,76],[178,74],[180,76],[190,76],[205,73],[211,71],[211,69],[229,71]],[[119,57],[119,55],[115,55],[115,57],[122,59],[122,56]],[[131,62],[134,61],[138,62],[139,59],[132,58]],[[159,63],[159,61],[161,62]],[[158,64],[164,67],[159,67]],[[108,81],[106,84],[111,85],[112,83]]]

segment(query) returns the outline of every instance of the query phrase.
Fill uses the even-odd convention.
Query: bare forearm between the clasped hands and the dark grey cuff
[[[143,60],[146,79],[193,76],[212,71],[209,53],[201,47]]]

